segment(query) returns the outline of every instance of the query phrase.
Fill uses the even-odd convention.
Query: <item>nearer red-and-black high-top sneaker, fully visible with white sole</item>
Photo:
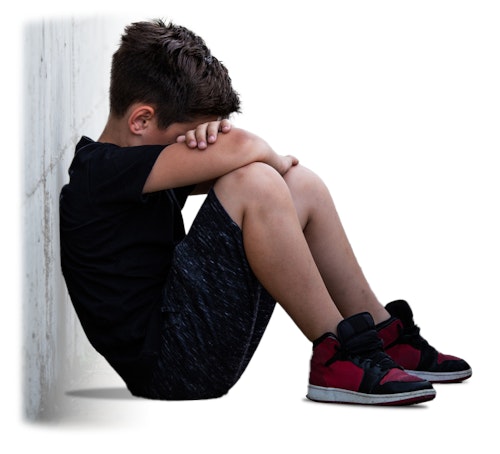
[[[339,323],[313,343],[307,398],[319,402],[408,405],[434,399],[426,380],[399,367],[382,348],[368,312]]]

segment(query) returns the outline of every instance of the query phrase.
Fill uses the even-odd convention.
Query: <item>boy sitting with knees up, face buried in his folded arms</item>
[[[60,197],[61,261],[98,352],[136,396],[224,395],[278,301],[313,344],[307,396],[400,405],[469,365],[422,339],[408,304],[384,307],[323,182],[227,118],[239,97],[191,31],[125,29],[110,114],[83,137]],[[207,193],[184,232],[181,209]]]

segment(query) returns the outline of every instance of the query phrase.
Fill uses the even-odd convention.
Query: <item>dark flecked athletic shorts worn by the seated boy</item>
[[[211,190],[174,252],[161,350],[144,397],[220,397],[238,381],[275,307],[254,276],[242,232]]]

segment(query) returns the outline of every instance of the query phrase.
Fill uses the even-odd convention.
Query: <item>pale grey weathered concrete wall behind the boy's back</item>
[[[24,27],[23,397],[29,420],[60,411],[61,390],[96,360],[60,271],[58,195],[75,143],[107,117],[117,19],[57,19]]]

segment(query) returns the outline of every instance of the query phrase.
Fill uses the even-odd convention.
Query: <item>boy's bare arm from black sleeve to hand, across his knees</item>
[[[233,128],[221,134],[205,150],[193,150],[185,143],[166,147],[158,156],[143,192],[156,192],[215,180],[252,162],[263,162],[284,175],[298,163],[281,156],[261,138]]]

